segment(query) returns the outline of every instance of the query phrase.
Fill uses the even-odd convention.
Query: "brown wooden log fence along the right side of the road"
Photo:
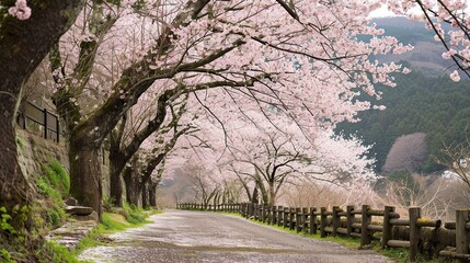
[[[257,204],[177,204],[179,209],[200,209],[240,213],[243,217],[303,231],[310,235],[345,236],[360,239],[360,247],[368,248],[372,240],[383,248],[405,248],[410,261],[419,254],[425,258],[446,256],[458,262],[470,262],[470,209],[456,210],[456,221],[442,224],[440,219],[426,219],[420,207],[409,208],[409,218],[401,218],[392,206],[372,209],[347,206],[344,209],[325,207],[283,207]],[[374,220],[372,220],[374,217]]]

